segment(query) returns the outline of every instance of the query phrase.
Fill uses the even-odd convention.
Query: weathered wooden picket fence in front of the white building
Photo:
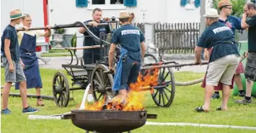
[[[154,45],[162,54],[193,53],[199,27],[199,23],[154,24]]]

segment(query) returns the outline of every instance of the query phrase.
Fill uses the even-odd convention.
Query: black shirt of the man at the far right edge
[[[256,15],[246,20],[248,28],[248,51],[256,52]]]

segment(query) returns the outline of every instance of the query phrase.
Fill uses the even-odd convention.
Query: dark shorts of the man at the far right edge
[[[256,52],[249,52],[244,76],[247,80],[256,81]]]

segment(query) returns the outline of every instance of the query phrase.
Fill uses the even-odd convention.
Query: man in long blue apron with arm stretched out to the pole
[[[29,14],[24,15],[25,17],[22,17],[23,27],[28,29],[31,26],[32,19]],[[43,86],[40,77],[39,64],[35,53],[35,47],[37,45],[37,37],[50,37],[50,26],[47,25],[46,27],[48,27],[46,32],[36,30],[17,32],[19,51],[21,53],[20,58],[25,64],[24,73],[27,78],[27,88],[35,88],[37,93],[37,106],[44,106],[44,104],[40,96],[40,89]],[[15,84],[15,89],[19,89],[19,83]]]

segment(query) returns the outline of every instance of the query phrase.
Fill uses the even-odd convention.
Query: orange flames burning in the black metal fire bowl
[[[141,70],[137,82],[130,84],[130,91],[128,92],[127,98],[123,99],[118,95],[107,102],[102,100],[94,104],[86,104],[85,110],[101,111],[102,109],[115,109],[120,111],[142,111],[144,110],[144,102],[146,101],[146,91],[154,93],[154,88],[151,86],[157,86],[158,75],[158,68]]]

